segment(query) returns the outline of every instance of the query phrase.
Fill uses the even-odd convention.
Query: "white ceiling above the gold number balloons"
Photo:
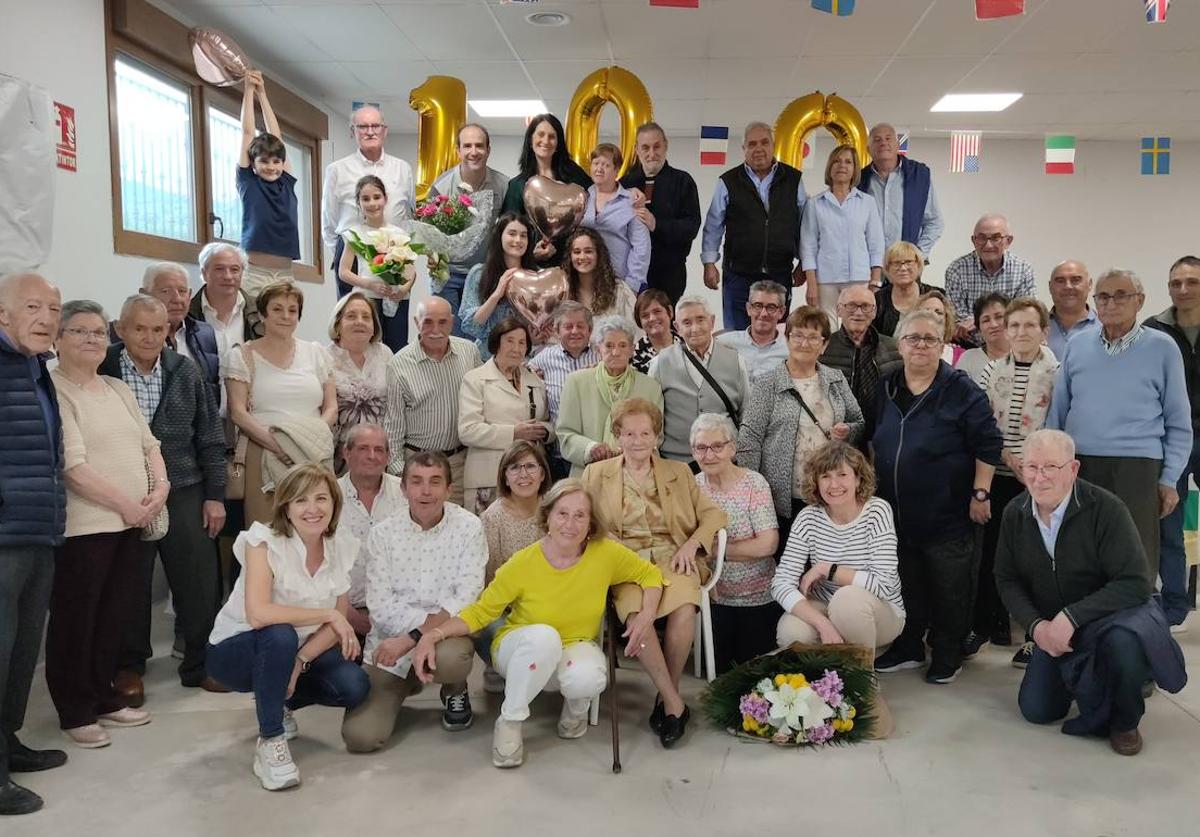
[[[172,5],[191,23],[224,30],[256,64],[335,113],[348,114],[354,100],[382,102],[394,131],[415,131],[408,92],[431,74],[463,79],[468,97],[542,98],[563,115],[584,76],[618,64],[642,79],[674,136],[773,122],[788,101],[820,89],[853,102],[868,124],[890,121],[913,136],[980,128],[1200,139],[1196,2],[1172,4],[1157,25],[1139,0],[1027,0],[1024,17],[989,22],[974,19],[972,0],[858,0],[846,18],[809,0],[701,0],[698,10],[648,0]],[[566,12],[571,23],[526,22],[544,11]],[[1025,97],[1000,114],[929,113],[942,94],[990,91]],[[518,119],[488,127],[524,130]]]

